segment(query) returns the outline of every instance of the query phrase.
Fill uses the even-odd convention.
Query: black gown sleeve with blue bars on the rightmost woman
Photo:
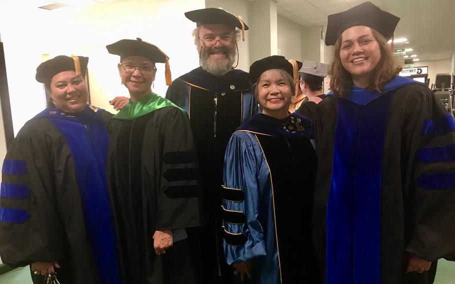
[[[434,261],[455,256],[455,122],[427,88],[414,87],[404,110],[408,202],[413,228],[406,251]],[[406,113],[407,112],[407,113]],[[406,202],[406,199],[404,200]]]

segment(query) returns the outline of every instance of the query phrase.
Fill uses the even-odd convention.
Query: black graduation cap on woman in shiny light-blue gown
[[[251,66],[249,66],[249,82],[251,84],[255,83],[264,71],[270,69],[284,69],[294,77],[294,67],[286,58],[284,58],[284,56],[271,55],[254,61]]]

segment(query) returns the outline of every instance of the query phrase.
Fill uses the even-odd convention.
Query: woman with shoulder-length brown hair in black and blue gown
[[[455,123],[397,76],[399,18],[370,2],[328,16],[330,88],[316,116],[314,240],[325,282],[427,283],[455,252]],[[431,271],[431,270],[430,270]]]

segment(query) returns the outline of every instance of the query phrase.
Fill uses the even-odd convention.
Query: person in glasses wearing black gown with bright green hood
[[[168,57],[153,44],[122,39],[106,46],[120,55],[118,72],[130,102],[109,122],[108,180],[121,264],[128,283],[198,283],[186,228],[199,226],[200,188],[186,112],[153,93],[156,62]]]

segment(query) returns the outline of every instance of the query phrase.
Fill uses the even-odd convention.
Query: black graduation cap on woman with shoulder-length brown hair
[[[398,21],[399,17],[379,9],[369,1],[364,2],[343,12],[328,15],[325,44],[335,44],[345,29],[355,25],[369,26],[390,39]]]

